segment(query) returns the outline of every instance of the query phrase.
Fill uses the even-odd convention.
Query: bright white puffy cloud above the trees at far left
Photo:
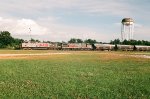
[[[30,29],[31,30],[30,30]],[[47,28],[37,24],[31,19],[5,19],[0,17],[0,30],[9,31],[12,35],[44,35]]]

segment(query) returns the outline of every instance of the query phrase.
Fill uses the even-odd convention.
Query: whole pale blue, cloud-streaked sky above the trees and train
[[[0,31],[45,41],[121,39],[121,20],[135,22],[134,39],[150,41],[150,0],[1,0]]]

